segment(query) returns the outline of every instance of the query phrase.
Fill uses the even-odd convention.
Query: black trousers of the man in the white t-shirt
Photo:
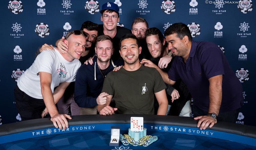
[[[21,91],[18,86],[14,89],[16,108],[21,120],[39,119],[45,108],[43,99],[36,99]]]

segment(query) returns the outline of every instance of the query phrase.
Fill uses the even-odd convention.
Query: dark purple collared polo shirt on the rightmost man
[[[225,55],[214,43],[192,41],[186,63],[182,57],[176,56],[168,72],[171,80],[183,80],[194,98],[194,105],[206,112],[209,109],[209,79],[217,75],[223,75],[220,112],[240,108],[243,102],[242,85]]]

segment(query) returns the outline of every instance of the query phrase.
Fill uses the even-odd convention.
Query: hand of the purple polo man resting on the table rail
[[[198,116],[194,118],[195,120],[199,120],[197,123],[197,127],[200,127],[200,130],[205,130],[209,125],[209,127],[213,127],[215,123],[217,123],[217,119],[212,118],[211,116]],[[201,125],[201,126],[200,126]]]

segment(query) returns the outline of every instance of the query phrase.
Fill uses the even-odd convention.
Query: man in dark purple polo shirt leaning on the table
[[[220,48],[196,42],[187,25],[175,23],[166,31],[168,49],[176,56],[168,72],[169,84],[182,79],[194,98],[197,127],[211,128],[217,120],[235,122],[242,106],[242,85]]]

